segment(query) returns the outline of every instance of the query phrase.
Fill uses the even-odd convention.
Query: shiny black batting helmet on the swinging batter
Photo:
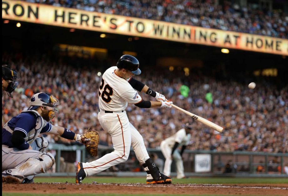
[[[135,75],[140,75],[141,70],[139,69],[139,61],[131,55],[123,55],[117,62],[118,68],[124,68],[131,71]]]

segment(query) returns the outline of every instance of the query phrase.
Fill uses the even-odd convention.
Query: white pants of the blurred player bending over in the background
[[[171,157],[172,147],[169,147],[169,145],[165,141],[162,141],[160,144],[160,149],[166,159],[164,163],[163,173],[166,176],[170,176],[171,164],[172,164],[172,157]],[[185,177],[183,160],[177,149],[173,153],[173,159],[176,161],[177,178]]]

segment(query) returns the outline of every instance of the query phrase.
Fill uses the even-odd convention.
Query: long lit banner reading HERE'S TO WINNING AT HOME
[[[190,44],[288,55],[288,39],[88,12],[23,1],[3,0],[2,18]]]

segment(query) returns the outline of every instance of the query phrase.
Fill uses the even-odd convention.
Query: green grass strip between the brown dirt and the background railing
[[[75,183],[75,178],[59,178],[59,177],[35,177],[35,183]],[[82,183],[145,183],[146,178],[127,178],[127,177],[88,177]],[[176,179],[172,178],[173,183],[180,184],[288,184],[288,178],[187,178]]]

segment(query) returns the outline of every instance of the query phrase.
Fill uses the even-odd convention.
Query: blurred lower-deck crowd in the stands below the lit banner
[[[59,58],[54,61],[38,55],[23,58],[18,54],[3,53],[2,61],[18,70],[20,79],[13,98],[3,93],[2,126],[19,112],[28,108],[30,97],[47,92],[59,99],[59,112],[54,125],[67,127],[76,133],[90,127],[100,131],[100,144],[111,146],[111,137],[105,133],[97,119],[100,73],[106,67],[75,67]],[[114,66],[117,59],[108,66]],[[257,151],[288,152],[288,85],[278,89],[270,83],[258,82],[257,88],[230,80],[216,80],[190,70],[184,76],[182,70],[170,71],[141,67],[136,76],[187,111],[192,111],[224,127],[221,134],[192,121],[191,117],[171,108],[141,109],[128,104],[126,108],[131,123],[141,133],[149,148],[159,149],[160,142],[177,132],[186,122],[193,131],[187,147],[190,150],[214,150],[218,152]],[[181,93],[183,85],[188,86]],[[212,96],[208,96],[212,95]],[[141,93],[144,100],[155,101]],[[63,138],[46,135],[49,142],[69,142]]]

